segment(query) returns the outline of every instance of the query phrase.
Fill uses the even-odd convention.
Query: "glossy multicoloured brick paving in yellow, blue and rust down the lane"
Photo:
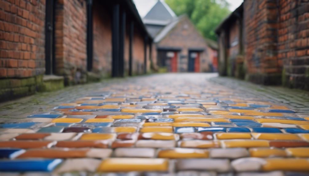
[[[0,132],[1,175],[309,173],[309,114],[181,76],[80,92]]]

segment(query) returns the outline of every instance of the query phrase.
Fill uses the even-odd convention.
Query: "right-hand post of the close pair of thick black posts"
[[[119,34],[119,75],[124,76],[124,62],[125,62],[125,9],[121,8],[120,17],[120,34]]]

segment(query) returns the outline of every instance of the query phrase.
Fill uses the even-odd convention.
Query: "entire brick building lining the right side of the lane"
[[[309,90],[308,0],[244,0],[216,33],[219,73]]]

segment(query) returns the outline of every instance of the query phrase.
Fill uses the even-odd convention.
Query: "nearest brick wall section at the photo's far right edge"
[[[279,1],[278,58],[282,83],[309,90],[309,2]]]

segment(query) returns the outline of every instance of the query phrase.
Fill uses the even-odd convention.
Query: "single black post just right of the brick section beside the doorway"
[[[87,71],[93,66],[93,18],[92,0],[87,0]]]

